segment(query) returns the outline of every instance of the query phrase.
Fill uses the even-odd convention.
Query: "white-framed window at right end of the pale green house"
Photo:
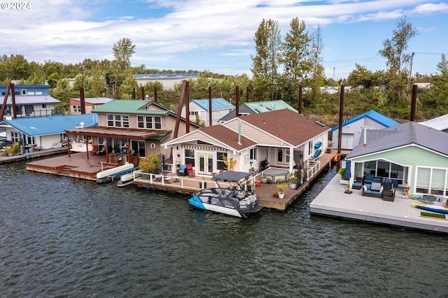
[[[415,192],[421,194],[444,195],[447,189],[445,169],[417,168]]]

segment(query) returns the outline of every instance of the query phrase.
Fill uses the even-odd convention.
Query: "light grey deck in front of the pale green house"
[[[400,187],[394,201],[383,201],[363,197],[361,190],[346,194],[344,186],[339,184],[339,175],[336,175],[311,201],[311,213],[448,233],[448,220],[422,217],[422,210],[412,207],[412,203],[418,201],[403,195]]]

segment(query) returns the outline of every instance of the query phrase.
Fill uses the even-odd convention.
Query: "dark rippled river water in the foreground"
[[[287,211],[242,220],[188,197],[1,164],[1,297],[447,297],[448,236]]]

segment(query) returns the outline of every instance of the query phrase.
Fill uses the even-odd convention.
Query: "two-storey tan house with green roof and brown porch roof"
[[[183,134],[200,127],[186,120],[167,106],[156,101],[114,99],[94,108],[98,115],[97,127],[66,129],[69,139],[82,136],[92,144],[92,152],[106,155],[108,162],[127,160],[139,164],[139,158],[165,154],[171,151],[160,147],[161,141],[174,138],[174,132]],[[90,150],[90,149],[88,149]],[[125,157],[125,158],[123,158]]]

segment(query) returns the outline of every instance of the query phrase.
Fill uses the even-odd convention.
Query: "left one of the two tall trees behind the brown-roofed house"
[[[255,96],[258,100],[276,99],[279,84],[279,57],[281,36],[279,22],[262,20],[255,32],[255,52],[251,72],[254,80]]]

